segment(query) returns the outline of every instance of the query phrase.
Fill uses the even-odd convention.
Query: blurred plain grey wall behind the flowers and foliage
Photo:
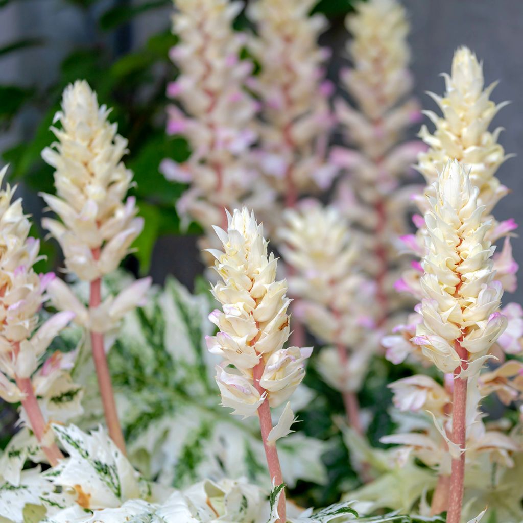
[[[282,0],[283,1],[283,0]],[[328,1],[328,0],[327,0]],[[107,0],[107,6],[115,4]],[[130,2],[124,2],[129,4]],[[143,2],[135,2],[140,4]],[[486,83],[500,80],[493,99],[511,100],[494,121],[494,127],[506,131],[501,142],[507,153],[520,156],[523,148],[523,2],[521,0],[404,0],[411,17],[412,69],[416,93],[422,104],[434,109],[434,103],[424,94],[432,90],[441,94],[444,89],[442,71],[450,70],[454,50],[461,44],[469,46],[484,61]],[[99,5],[99,4],[98,4]],[[95,14],[91,13],[91,16]],[[109,42],[117,51],[137,48],[147,37],[170,24],[170,9],[162,7],[133,20],[132,24],[112,35]],[[20,37],[49,39],[44,49],[28,49],[6,58],[0,57],[2,83],[31,84],[51,82],[58,74],[64,53],[71,44],[88,42],[93,36],[94,22],[60,0],[26,0],[8,4],[0,11],[0,47]],[[339,65],[343,63],[344,42],[347,33],[343,17],[332,20],[332,28],[322,37],[322,43],[333,48],[329,76],[336,80]],[[6,135],[0,135],[0,151],[20,138],[30,136],[38,115],[26,114]],[[498,172],[502,183],[513,192],[497,207],[499,220],[510,217],[523,222],[523,179],[519,158],[508,160]],[[39,212],[39,201],[29,198],[30,212]],[[26,206],[27,206],[26,202]],[[32,208],[31,208],[32,206]],[[513,242],[515,258],[523,263],[523,241]],[[162,238],[154,251],[152,271],[156,281],[163,281],[167,272],[174,272],[184,283],[200,269],[194,238]],[[515,296],[523,301],[523,287]]]

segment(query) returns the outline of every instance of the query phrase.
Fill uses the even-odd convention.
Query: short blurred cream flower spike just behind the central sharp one
[[[375,286],[358,268],[358,242],[343,215],[316,200],[302,200],[283,218],[280,250],[294,269],[289,277],[289,289],[299,299],[294,313],[322,342],[350,351],[341,362],[335,347],[324,348],[319,370],[336,389],[356,391],[379,346]]]

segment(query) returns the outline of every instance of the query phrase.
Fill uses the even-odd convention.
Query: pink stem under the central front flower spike
[[[260,361],[256,367],[253,369],[253,378],[254,386],[256,390],[261,394],[265,394],[266,390],[263,386],[260,385],[260,379],[263,375],[265,368],[265,363],[263,358],[260,358]],[[278,458],[278,451],[276,450],[276,445],[270,445],[267,441],[269,432],[272,429],[272,419],[270,417],[270,407],[269,407],[269,398],[265,397],[265,401],[258,407],[258,417],[260,420],[260,429],[261,429],[261,439],[263,439],[263,446],[265,449],[265,456],[267,457],[267,465],[269,468],[269,475],[271,482],[278,486],[283,483],[283,477],[281,475],[280,460]],[[278,502],[278,516],[280,523],[287,522],[286,515],[286,502],[285,502],[285,490],[281,491],[280,499]]]

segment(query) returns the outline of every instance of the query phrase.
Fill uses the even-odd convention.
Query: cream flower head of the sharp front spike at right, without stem
[[[414,342],[442,372],[461,365],[463,358],[454,347],[461,346],[469,363],[469,369],[461,371],[465,376],[479,371],[470,363],[484,361],[507,324],[499,312],[503,289],[494,281],[494,247],[485,239],[492,223],[484,218],[479,189],[457,161],[447,163],[431,192],[435,196],[428,197],[420,281],[423,323]]]

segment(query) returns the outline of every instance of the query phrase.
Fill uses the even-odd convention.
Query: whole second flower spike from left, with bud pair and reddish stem
[[[150,278],[136,281],[116,298],[102,301],[101,279],[115,270],[143,228],[133,197],[126,197],[132,173],[121,161],[127,140],[108,120],[110,110],[99,106],[96,94],[85,81],[66,87],[62,110],[53,127],[56,139],[42,152],[52,167],[56,196],[43,194],[59,220],[44,218],[42,225],[58,240],[65,269],[89,282],[89,306],[80,303],[60,279],[51,282],[49,293],[58,309],[72,310],[75,322],[87,329],[95,362],[109,434],[125,452],[125,442],[107,366],[104,335],[117,328],[128,310],[136,306],[150,286]],[[106,340],[107,342],[107,340]]]

